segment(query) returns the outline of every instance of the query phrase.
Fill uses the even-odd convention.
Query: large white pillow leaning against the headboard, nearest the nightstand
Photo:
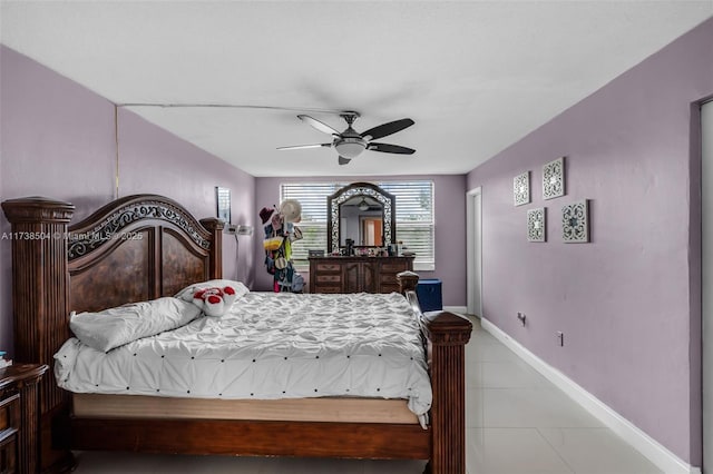
[[[201,309],[192,303],[163,297],[99,313],[72,312],[69,328],[84,344],[107,352],[131,340],[184,326],[199,314]]]

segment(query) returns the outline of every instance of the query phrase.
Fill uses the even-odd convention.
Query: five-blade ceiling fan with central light
[[[321,147],[333,147],[339,154],[339,164],[346,165],[352,158],[358,157],[364,150],[372,151],[382,151],[385,154],[400,154],[400,155],[412,155],[416,152],[412,148],[401,147],[399,145],[391,144],[382,144],[371,140],[378,140],[379,138],[387,137],[389,135],[395,134],[397,131],[401,131],[404,128],[411,127],[414,121],[410,118],[404,118],[401,120],[390,121],[388,124],[382,124],[380,126],[370,128],[364,132],[358,132],[352,128],[352,124],[356,120],[360,115],[359,112],[348,110],[340,113],[346,121],[346,129],[344,131],[338,131],[329,125],[314,119],[310,116],[299,115],[297,118],[312,127],[316,128],[324,134],[330,134],[332,136],[332,141],[329,144],[314,144],[314,145],[296,145],[292,147],[280,147],[279,150],[297,150],[304,148],[321,148]]]

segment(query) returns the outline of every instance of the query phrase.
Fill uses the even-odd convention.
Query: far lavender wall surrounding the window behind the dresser
[[[421,278],[442,280],[443,305],[466,306],[466,177],[462,175],[439,176],[356,176],[320,178],[255,178],[255,215],[264,207],[280,201],[282,182],[320,181],[379,181],[432,179],[433,201],[436,205],[436,269],[419,270]],[[326,206],[326,203],[324,203]],[[262,240],[255,241],[255,255],[264,255]],[[309,277],[304,273],[305,279]],[[255,266],[255,288],[268,290],[272,287],[268,275],[261,260]]]

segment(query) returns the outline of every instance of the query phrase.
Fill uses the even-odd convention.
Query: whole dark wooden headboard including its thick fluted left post
[[[170,296],[221,278],[217,218],[196,220],[178,203],[134,195],[69,226],[75,206],[42,197],[2,203],[12,225],[14,358],[52,364],[69,337],[71,310],[98,310]],[[52,376],[42,379],[42,414],[66,402]]]

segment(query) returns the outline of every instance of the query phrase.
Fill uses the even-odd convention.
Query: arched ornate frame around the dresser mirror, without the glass
[[[371,182],[352,182],[326,198],[326,251],[340,246],[341,206],[355,196],[369,196],[382,206],[382,230],[385,245],[397,243],[397,198]],[[361,247],[361,246],[360,246]],[[377,246],[379,247],[379,246]]]

